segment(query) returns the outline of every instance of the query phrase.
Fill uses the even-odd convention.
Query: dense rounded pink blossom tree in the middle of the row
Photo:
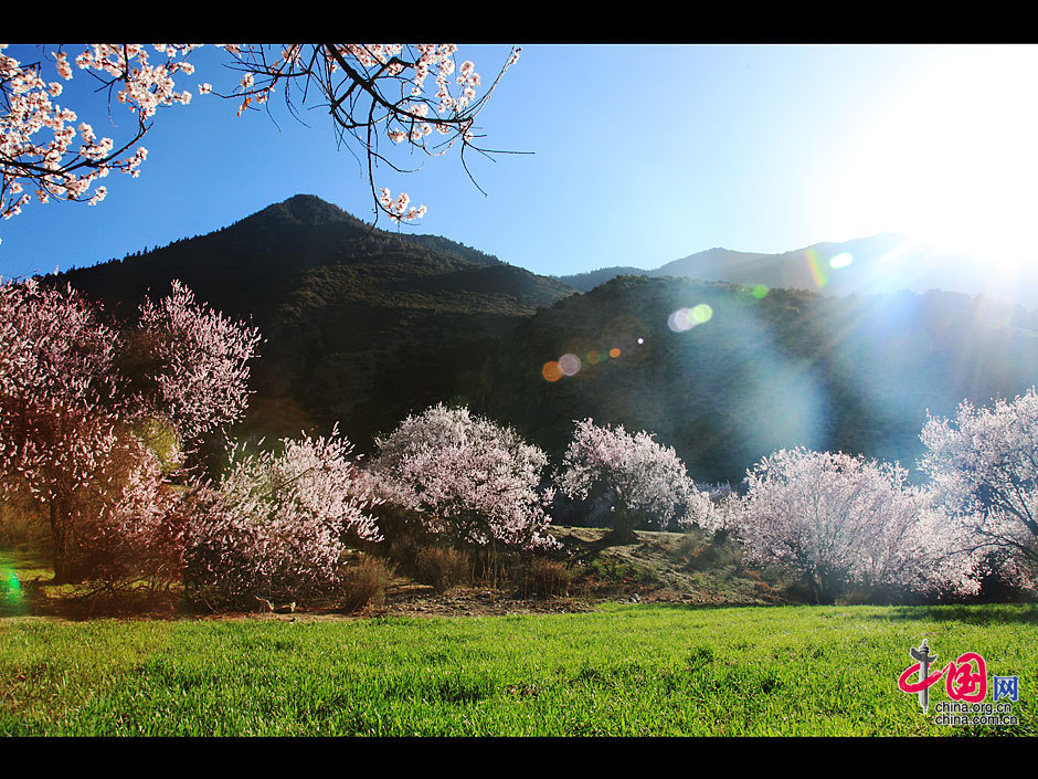
[[[472,546],[554,546],[541,492],[548,456],[466,408],[437,403],[378,441],[377,467],[413,495],[435,534]]]

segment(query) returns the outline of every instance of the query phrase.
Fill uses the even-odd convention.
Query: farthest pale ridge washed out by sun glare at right
[[[839,243],[816,243],[780,254],[709,249],[657,269],[611,267],[560,281],[581,292],[618,275],[686,276],[744,286],[811,290],[824,295],[880,294],[930,290],[986,294],[1038,308],[1038,269],[999,275],[991,263],[939,251],[904,235],[881,233]]]

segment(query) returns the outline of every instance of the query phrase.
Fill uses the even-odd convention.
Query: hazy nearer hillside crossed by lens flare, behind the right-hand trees
[[[674,312],[698,304],[708,320],[670,329]],[[614,347],[619,356],[604,358]],[[563,354],[580,372],[547,381],[542,366]],[[946,415],[964,398],[987,403],[1038,382],[1038,316],[955,293],[759,298],[732,284],[625,276],[539,312],[485,376],[484,410],[555,462],[572,420],[592,417],[657,433],[700,481],[739,482],[796,445],[911,467],[928,409]]]

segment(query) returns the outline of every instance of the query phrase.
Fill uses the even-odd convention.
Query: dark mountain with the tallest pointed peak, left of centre
[[[246,428],[289,435],[339,422],[361,451],[411,411],[456,394],[490,344],[574,292],[445,238],[371,230],[305,194],[56,277],[123,315],[173,278],[267,339]]]

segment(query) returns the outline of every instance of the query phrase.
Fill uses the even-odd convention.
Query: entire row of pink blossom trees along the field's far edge
[[[183,575],[213,601],[316,594],[340,580],[351,544],[382,539],[380,506],[455,546],[555,546],[546,453],[465,408],[409,417],[363,464],[332,431],[232,445],[225,472],[205,478],[192,454],[243,414],[260,341],[178,282],[131,323],[70,287],[0,285],[0,498],[43,506],[55,581]],[[714,506],[671,448],[587,419],[554,482],[604,499],[616,540],[639,524],[723,530],[817,601],[848,588],[975,592],[982,564],[1035,588],[1038,393],[964,403],[921,438],[924,486],[900,465],[784,450]]]

